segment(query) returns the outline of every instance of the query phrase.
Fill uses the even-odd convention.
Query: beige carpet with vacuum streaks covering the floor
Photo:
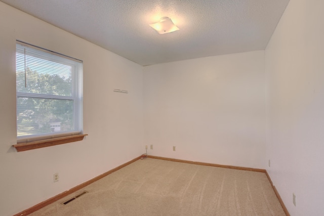
[[[262,172],[145,158],[30,215],[286,214]]]

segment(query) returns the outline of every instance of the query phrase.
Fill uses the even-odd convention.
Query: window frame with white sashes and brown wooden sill
[[[22,45],[25,47],[29,47],[41,52],[49,53],[50,55],[56,55],[61,58],[66,58],[69,60],[73,60],[75,62],[81,63],[80,68],[77,69],[75,65],[71,65],[74,67],[71,72],[72,79],[72,90],[71,96],[62,96],[62,95],[52,95],[52,94],[38,94],[38,93],[24,93],[16,90],[16,112],[18,110],[18,98],[37,98],[37,99],[49,99],[49,100],[71,100],[73,101],[73,128],[71,131],[63,131],[63,132],[49,132],[44,134],[36,134],[36,135],[25,135],[18,137],[18,122],[17,124],[17,144],[13,145],[17,151],[25,151],[35,148],[42,148],[47,146],[59,145],[64,143],[75,142],[79,140],[83,140],[87,134],[83,134],[83,61],[68,57],[66,55],[62,55],[47,49],[43,49],[34,45],[30,45],[26,42],[16,40],[17,45]],[[17,48],[16,48],[17,55]],[[26,54],[24,54],[26,55]],[[38,57],[37,57],[38,58]],[[49,59],[42,58],[43,60],[48,61]],[[17,57],[16,57],[17,61]],[[78,74],[79,73],[79,74]],[[17,63],[16,63],[16,76],[17,76]],[[76,76],[76,77],[74,77]],[[79,79],[79,80],[78,80]],[[16,84],[17,88],[17,84]],[[16,118],[18,116],[18,112],[16,114]],[[78,125],[77,130],[75,126]]]

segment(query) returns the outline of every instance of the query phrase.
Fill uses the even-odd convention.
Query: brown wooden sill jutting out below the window
[[[60,145],[64,143],[81,141],[85,136],[88,136],[88,134],[71,135],[66,137],[57,137],[57,138],[46,139],[46,140],[32,141],[28,143],[19,143],[13,145],[13,147],[17,149],[17,152],[27,151],[31,149],[38,149],[38,148],[44,148],[48,146]]]

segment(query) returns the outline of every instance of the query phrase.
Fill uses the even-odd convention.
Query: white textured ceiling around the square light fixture
[[[289,0],[0,0],[140,65],[264,50]],[[148,24],[170,17],[180,28]]]

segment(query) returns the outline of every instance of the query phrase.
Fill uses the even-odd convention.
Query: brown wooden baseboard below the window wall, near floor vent
[[[48,200],[45,200],[45,201],[43,201],[41,203],[38,203],[38,204],[36,204],[36,205],[34,205],[34,206],[32,206],[32,207],[24,210],[24,211],[21,211],[21,212],[15,214],[14,216],[24,216],[24,215],[28,215],[28,214],[30,214],[30,213],[38,210],[38,209],[41,209],[41,208],[43,208],[43,207],[45,207],[45,206],[47,206],[47,205],[49,205],[49,204],[51,204],[51,203],[59,200],[59,199],[62,199],[63,197],[65,197],[65,196],[67,196],[67,195],[69,195],[71,193],[74,193],[75,191],[78,191],[78,190],[80,190],[80,189],[82,189],[82,188],[90,185],[91,183],[94,183],[94,182],[98,181],[99,179],[102,179],[102,178],[108,176],[112,172],[115,172],[118,169],[121,169],[121,168],[123,168],[123,167],[125,167],[125,166],[127,166],[127,165],[129,165],[129,164],[131,164],[133,162],[135,162],[136,160],[139,160],[140,158],[141,158],[141,156],[139,156],[137,158],[134,158],[133,160],[128,161],[128,162],[126,162],[124,164],[121,164],[120,166],[117,166],[116,168],[113,168],[113,169],[105,172],[104,174],[101,174],[100,176],[97,176],[97,177],[95,177],[95,178],[93,178],[93,179],[91,179],[91,180],[89,180],[89,181],[87,181],[85,183],[82,183],[82,184],[80,184],[78,186],[75,186],[74,188],[71,188],[68,191],[64,191],[63,193],[60,193],[60,194],[58,194],[58,195],[56,195],[56,196],[54,196],[54,197],[52,197],[52,198],[50,198]]]

